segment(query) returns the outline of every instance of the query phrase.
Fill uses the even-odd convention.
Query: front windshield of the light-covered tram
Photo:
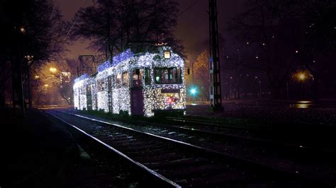
[[[154,69],[155,83],[182,83],[181,68],[164,67]]]

